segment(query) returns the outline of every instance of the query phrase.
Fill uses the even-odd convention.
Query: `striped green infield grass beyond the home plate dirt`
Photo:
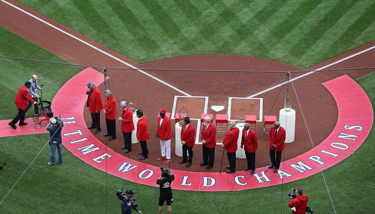
[[[375,1],[18,0],[139,63],[237,54],[309,67],[375,40]]]

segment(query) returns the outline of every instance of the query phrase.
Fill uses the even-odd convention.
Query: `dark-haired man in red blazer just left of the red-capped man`
[[[141,144],[142,151],[139,153],[142,157],[138,157],[139,160],[143,160],[147,158],[148,148],[147,148],[147,140],[150,139],[150,133],[148,133],[148,121],[147,117],[143,115],[142,110],[137,110],[136,115],[139,118],[137,122],[137,142]]]

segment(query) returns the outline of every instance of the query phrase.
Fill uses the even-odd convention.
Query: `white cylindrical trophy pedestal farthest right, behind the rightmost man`
[[[294,141],[296,130],[296,111],[294,109],[290,111],[281,109],[279,113],[280,126],[285,129],[285,143],[291,143]]]

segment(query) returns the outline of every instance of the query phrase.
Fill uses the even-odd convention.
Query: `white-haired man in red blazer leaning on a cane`
[[[228,157],[229,166],[226,166],[228,171],[226,173],[236,172],[236,151],[237,151],[237,140],[240,134],[240,129],[236,127],[236,121],[229,122],[229,131],[226,132],[223,140],[223,148],[226,150],[226,156]]]

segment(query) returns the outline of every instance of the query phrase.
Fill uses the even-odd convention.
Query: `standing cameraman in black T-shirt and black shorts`
[[[168,214],[171,214],[172,208],[172,180],[169,179],[168,171],[162,169],[162,175],[157,179],[156,184],[160,185],[160,195],[159,195],[159,214],[163,212],[163,204],[166,201],[166,206],[168,207]]]

